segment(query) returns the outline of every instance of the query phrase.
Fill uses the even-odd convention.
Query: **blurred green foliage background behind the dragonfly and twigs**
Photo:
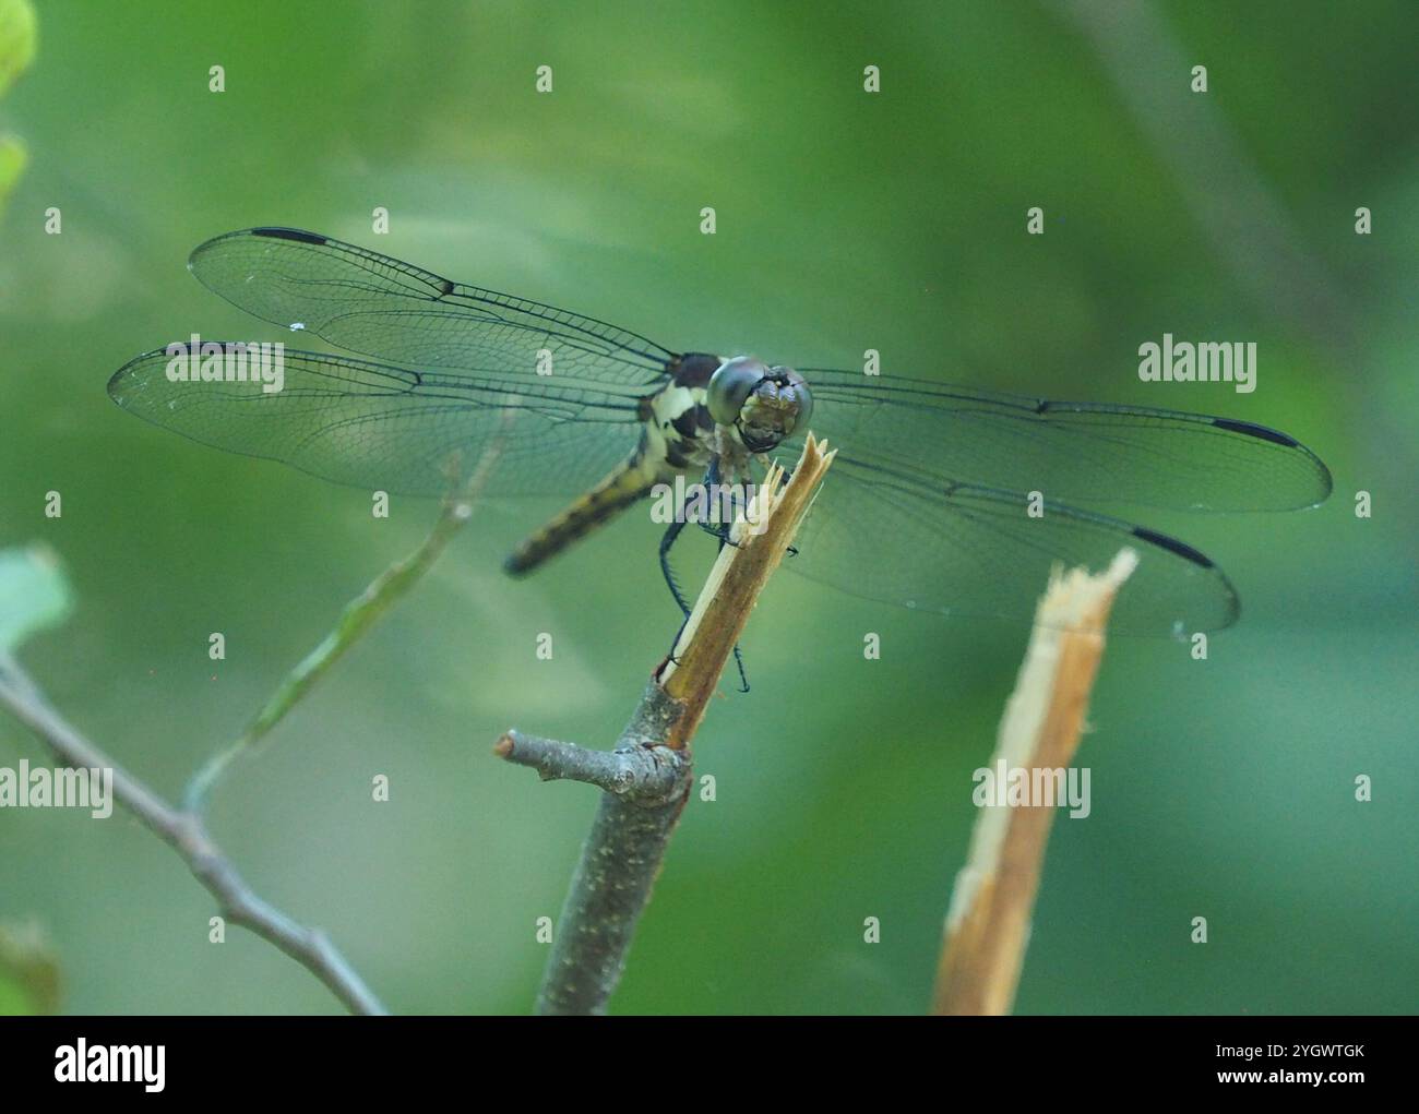
[[[373,521],[366,492],[105,396],[194,329],[280,339],[183,264],[221,231],[308,227],[670,346],[806,366],[878,348],[888,372],[1298,436],[1335,474],[1320,509],[1139,515],[1216,558],[1244,613],[1205,663],[1111,647],[1080,758],[1094,810],[1056,823],[1017,1010],[1419,1006],[1412,3],[67,1],[40,34],[0,104],[30,156],[0,224],[0,546],[67,563],[75,613],[24,661],[158,789],[436,511]],[[1259,389],[1145,387],[1137,346],[1165,331],[1256,339]],[[534,921],[595,793],[490,746],[509,725],[609,744],[674,633],[644,517],[504,578],[551,509],[482,508],[213,805],[263,895],[396,1012],[531,1008]],[[753,691],[698,737],[718,800],[675,834],[614,1009],[921,1012],[1025,639],[778,578],[744,643]],[[0,715],[0,765],[26,756],[48,761]],[[207,894],[128,816],[0,810],[0,918],[43,925],[67,1010],[339,1009],[241,930],[210,945]]]

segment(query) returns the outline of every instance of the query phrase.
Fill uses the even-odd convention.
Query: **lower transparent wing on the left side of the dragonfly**
[[[536,376],[416,372],[284,353],[284,386],[173,382],[148,352],[109,379],[119,406],[203,444],[370,490],[440,495],[497,453],[491,494],[575,494],[630,456],[636,396]],[[453,454],[457,454],[455,457]]]

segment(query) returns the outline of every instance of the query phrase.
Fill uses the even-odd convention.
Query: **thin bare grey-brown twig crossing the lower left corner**
[[[79,769],[112,769],[114,796],[192,870],[217,900],[221,915],[284,951],[345,1003],[352,1013],[385,1008],[324,932],[297,924],[251,890],[211,840],[201,817],[173,807],[70,725],[13,660],[0,674],[0,704],[44,741],[60,761]]]

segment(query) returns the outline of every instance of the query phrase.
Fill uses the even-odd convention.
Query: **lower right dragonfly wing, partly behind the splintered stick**
[[[832,441],[830,441],[832,447]],[[1237,596],[1206,556],[1142,526],[1022,494],[931,485],[840,450],[785,568],[854,596],[945,614],[1029,622],[1051,565],[1098,572],[1139,553],[1110,630],[1176,634],[1237,617]]]

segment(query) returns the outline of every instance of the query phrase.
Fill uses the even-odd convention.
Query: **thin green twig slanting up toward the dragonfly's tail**
[[[241,737],[217,751],[193,775],[183,793],[183,807],[187,812],[200,813],[227,768],[241,755],[251,752],[307,697],[315,683],[375,626],[375,622],[433,568],[438,555],[473,517],[473,508],[492,473],[499,447],[499,443],[492,443],[484,451],[463,491],[450,492],[444,500],[443,511],[419,548],[385,569],[370,580],[363,592],[345,605],[335,629],[287,674],[265,707],[241,732]]]

